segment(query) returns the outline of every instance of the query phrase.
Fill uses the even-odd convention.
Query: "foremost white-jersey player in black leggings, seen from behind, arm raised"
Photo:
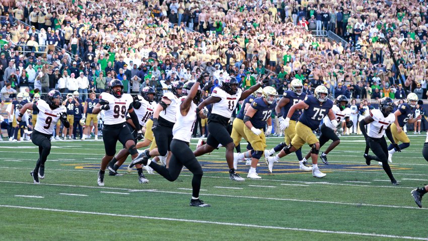
[[[158,165],[146,157],[142,158],[143,164],[149,165],[170,182],[174,182],[178,178],[183,166],[191,171],[193,173],[193,191],[192,198],[190,199],[190,206],[192,207],[210,207],[210,205],[204,204],[203,201],[199,199],[199,190],[203,171],[189,147],[193,128],[196,122],[196,114],[199,114],[201,118],[206,118],[202,111],[197,110],[196,106],[201,98],[201,82],[202,78],[198,78],[197,82],[188,81],[183,86],[183,94],[187,96],[180,97],[176,106],[176,123],[172,130],[174,137],[171,141],[172,153],[169,161],[169,168]]]

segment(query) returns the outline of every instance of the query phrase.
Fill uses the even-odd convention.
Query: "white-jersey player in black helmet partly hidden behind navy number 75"
[[[340,123],[344,119],[346,123],[346,127],[351,128],[353,123],[349,119],[350,109],[347,106],[348,106],[348,98],[346,98],[346,96],[344,95],[339,95],[336,98],[336,104],[333,105],[331,110],[333,111],[334,116],[336,117],[337,123]],[[324,162],[324,164],[326,165],[328,165],[327,154],[330,151],[332,151],[337,145],[340,144],[340,139],[335,132],[336,129],[337,129],[337,126],[333,126],[333,124],[330,121],[330,118],[328,118],[328,116],[324,117],[324,123],[321,125],[321,128],[320,128],[321,130],[321,135],[319,138],[320,148],[329,140],[332,141],[331,144],[325,150],[325,152],[322,152],[320,156],[322,162]],[[310,156],[311,156],[311,153],[309,152],[305,156],[304,160],[306,161],[307,159],[309,159]]]

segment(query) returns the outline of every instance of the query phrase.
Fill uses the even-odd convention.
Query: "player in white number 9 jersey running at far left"
[[[31,135],[31,141],[39,147],[39,159],[36,167],[30,172],[33,177],[33,183],[39,184],[39,178],[44,178],[44,168],[47,156],[50,153],[50,138],[52,137],[53,128],[60,120],[65,128],[69,128],[67,121],[66,109],[62,104],[62,95],[57,90],[51,90],[47,94],[46,101],[39,100],[37,103],[25,104],[18,114],[17,121],[21,122],[27,109],[37,112],[37,122]]]

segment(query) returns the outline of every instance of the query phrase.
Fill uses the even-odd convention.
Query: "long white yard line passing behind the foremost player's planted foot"
[[[15,183],[15,184],[34,185],[33,183],[11,182],[11,181],[1,181],[1,180],[0,180],[0,183]],[[114,189],[114,190],[122,190],[122,191],[127,191],[127,192],[154,192],[154,193],[171,193],[171,194],[191,195],[191,193],[159,191],[156,189],[146,189],[146,190],[144,190],[144,189],[124,189],[124,188],[106,188],[106,187],[98,187],[98,186],[92,187],[92,186],[76,186],[76,185],[63,185],[63,184],[39,184],[39,185],[73,187],[73,188]],[[414,189],[414,188],[409,188],[409,189]],[[409,206],[392,206],[392,205],[377,205],[377,204],[362,204],[362,203],[341,203],[341,202],[330,202],[330,201],[314,201],[314,200],[299,200],[299,199],[285,199],[285,198],[263,198],[263,197],[251,197],[251,196],[231,196],[231,195],[219,195],[219,194],[204,194],[204,195],[205,196],[213,196],[213,197],[266,199],[266,200],[276,200],[276,201],[296,201],[296,202],[309,202],[309,203],[341,204],[341,205],[352,205],[352,206],[369,206],[369,207],[388,207],[388,208],[406,208],[406,209],[425,209],[425,210],[428,210],[428,208],[418,208],[418,207],[409,207]]]

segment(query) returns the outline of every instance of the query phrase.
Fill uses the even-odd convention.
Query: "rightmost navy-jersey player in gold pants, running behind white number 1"
[[[402,142],[398,147],[400,150],[403,150],[410,146],[410,140],[407,137],[406,133],[403,132],[403,127],[406,123],[413,124],[422,118],[421,115],[418,115],[416,118],[413,116],[413,108],[417,104],[417,95],[415,93],[410,93],[407,95],[407,103],[402,103],[398,106],[398,109],[394,112],[395,122],[391,125],[392,137],[394,142]],[[388,146],[388,161],[392,163],[392,155],[397,150],[390,144]]]

